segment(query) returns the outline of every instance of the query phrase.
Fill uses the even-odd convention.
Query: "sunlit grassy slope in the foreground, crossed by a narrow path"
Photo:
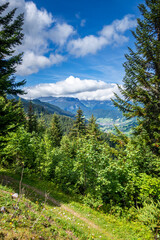
[[[4,175],[18,181],[4,180]],[[23,178],[23,183],[49,192],[51,198],[46,203],[44,194],[24,185],[23,197],[13,200],[10,193],[18,192],[19,179],[20,176],[8,171],[0,172],[0,207],[5,206],[9,211],[0,214],[0,239],[153,239],[149,229],[140,223],[129,223],[95,211],[47,181]],[[60,204],[53,204],[52,197]],[[19,209],[14,210],[16,205]]]

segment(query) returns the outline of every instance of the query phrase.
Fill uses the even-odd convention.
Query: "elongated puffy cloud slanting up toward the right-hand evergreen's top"
[[[115,20],[112,24],[104,26],[98,36],[89,35],[71,40],[68,43],[68,51],[76,57],[83,57],[87,54],[95,54],[106,45],[121,45],[128,41],[123,33],[135,26],[134,16],[126,15],[123,19]]]

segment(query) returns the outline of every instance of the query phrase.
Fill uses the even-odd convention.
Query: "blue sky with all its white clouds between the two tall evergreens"
[[[16,48],[24,53],[16,72],[17,81],[27,81],[23,98],[108,100],[118,93],[144,0],[9,2],[17,15],[24,12],[24,39]]]

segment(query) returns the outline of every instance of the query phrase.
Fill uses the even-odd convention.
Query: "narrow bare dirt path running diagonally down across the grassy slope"
[[[11,178],[11,177],[8,177],[8,176],[2,176],[2,180],[4,181],[4,183],[11,183],[11,182],[17,182],[17,180]],[[28,189],[31,189],[33,190],[34,192],[36,192],[37,194],[39,194],[40,196],[43,196],[45,197],[45,193],[35,187],[32,187],[28,184],[25,184],[25,183],[22,183],[22,186],[28,188]],[[72,208],[64,205],[64,204],[61,204],[60,202],[58,202],[57,200],[55,200],[53,197],[51,196],[48,196],[47,197],[49,201],[51,201],[54,205],[64,209],[65,211],[71,213],[72,215],[74,215],[75,217],[79,218],[80,220],[82,220],[83,222],[85,222],[87,225],[89,225],[91,228],[94,228],[96,229],[97,231],[103,233],[106,237],[108,237],[109,239],[117,239],[115,237],[113,237],[113,235],[111,235],[110,233],[107,233],[105,232],[105,229],[102,229],[101,227],[99,227],[98,225],[94,224],[91,220],[83,217],[82,215],[80,215],[79,213],[77,213],[76,211],[74,211]]]

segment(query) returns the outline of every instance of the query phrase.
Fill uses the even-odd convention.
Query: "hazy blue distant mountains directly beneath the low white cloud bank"
[[[86,118],[90,118],[92,114],[96,118],[111,118],[113,120],[123,117],[119,109],[110,100],[79,100],[72,97],[40,97],[34,99],[34,101],[37,100],[53,104],[73,114],[76,114],[78,108],[81,108]]]

